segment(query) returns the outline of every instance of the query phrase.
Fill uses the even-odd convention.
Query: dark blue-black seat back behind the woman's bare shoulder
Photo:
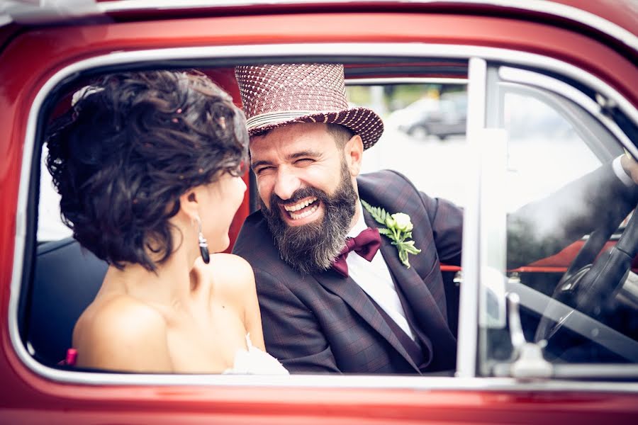
[[[27,341],[39,361],[55,365],[65,358],[75,322],[94,300],[107,267],[73,238],[38,246]]]

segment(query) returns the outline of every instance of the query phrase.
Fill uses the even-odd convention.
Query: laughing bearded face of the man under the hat
[[[337,142],[325,124],[286,125],[250,142],[262,213],[281,257],[298,271],[330,267],[357,220],[359,136]]]

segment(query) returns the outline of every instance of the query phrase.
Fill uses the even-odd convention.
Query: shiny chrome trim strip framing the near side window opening
[[[25,143],[23,146],[23,159],[21,164],[20,187],[18,191],[18,209],[16,212],[16,242],[14,244],[13,271],[11,280],[11,295],[9,299],[9,334],[11,343],[16,349],[18,358],[32,369],[35,373],[42,375],[50,380],[57,382],[73,382],[85,383],[92,385],[192,385],[194,382],[201,382],[206,385],[304,385],[317,387],[335,386],[335,382],[339,382],[338,386],[354,386],[354,387],[420,387],[429,388],[431,385],[440,385],[440,380],[450,380],[449,388],[457,389],[462,387],[464,378],[420,378],[420,377],[401,377],[401,376],[375,376],[375,377],[323,377],[318,375],[296,375],[289,378],[276,378],[269,376],[233,376],[216,375],[214,377],[197,378],[191,375],[169,375],[169,376],[152,376],[152,375],[121,375],[121,374],[96,374],[67,372],[63,370],[55,370],[47,368],[35,361],[20,341],[18,335],[18,324],[16,321],[18,312],[18,294],[22,281],[23,256],[26,238],[26,207],[28,200],[28,187],[30,175],[30,163],[33,156],[35,142],[35,128],[38,118],[38,111],[42,107],[43,101],[47,94],[55,88],[57,84],[74,72],[81,72],[85,69],[101,67],[106,65],[127,64],[141,62],[154,62],[159,60],[179,60],[179,59],[203,59],[213,57],[249,57],[255,60],[270,56],[281,57],[308,57],[308,55],[318,55],[323,57],[335,57],[335,55],[349,55],[352,57],[419,57],[419,56],[435,56],[435,57],[483,57],[487,60],[503,60],[524,66],[544,67],[558,74],[564,74],[568,77],[581,81],[581,83],[591,86],[608,98],[612,98],[617,102],[618,106],[627,116],[638,123],[638,111],[636,111],[631,103],[620,94],[612,89],[611,86],[601,81],[597,77],[584,72],[577,67],[566,62],[561,62],[549,57],[543,57],[526,52],[516,52],[512,50],[497,49],[492,47],[476,47],[476,46],[451,46],[451,45],[427,45],[420,43],[334,43],[334,44],[293,44],[293,45],[233,45],[218,47],[179,47],[172,49],[142,50],[130,52],[112,52],[106,55],[91,57],[86,60],[75,62],[69,66],[60,69],[51,77],[40,89],[35,96],[33,105],[28,116]],[[476,61],[474,61],[476,62]],[[466,314],[461,311],[460,314]],[[463,320],[462,317],[459,319]],[[459,333],[459,340],[463,341],[466,334]],[[622,366],[619,366],[622,368]],[[464,373],[465,370],[464,370]],[[328,380],[328,382],[326,382]],[[330,381],[332,383],[330,383]],[[352,383],[350,383],[352,382]],[[458,382],[458,383],[455,383]],[[471,381],[474,382],[474,381]],[[483,382],[478,383],[478,382]],[[474,388],[482,389],[491,388],[490,382],[507,382],[508,390],[528,390],[529,382],[516,382],[513,380],[493,381],[491,379],[478,380]],[[447,385],[447,384],[446,384]],[[504,387],[499,387],[503,390]],[[554,382],[544,382],[539,389],[564,389],[564,390],[583,390],[583,385],[577,383],[561,384]],[[636,391],[638,387],[632,384],[619,384],[605,386],[605,384],[592,384],[588,386],[591,390],[610,390],[610,391]]]

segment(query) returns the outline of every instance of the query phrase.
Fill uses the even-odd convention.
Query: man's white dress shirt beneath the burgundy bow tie
[[[364,220],[361,203],[357,203],[357,209],[359,210],[359,220],[357,220],[352,229],[350,229],[348,233],[349,237],[357,237],[359,233],[368,228]],[[383,237],[384,236],[381,235],[381,238]],[[396,288],[394,287],[394,282],[390,276],[390,271],[388,271],[384,256],[381,255],[381,249],[376,251],[372,261],[367,261],[352,251],[348,254],[346,263],[348,265],[350,278],[357,282],[357,285],[359,285],[379,307],[388,313],[388,316],[405,331],[405,334],[415,339],[412,329],[408,326],[408,320],[405,319],[403,305],[401,305],[401,300],[399,300],[398,294],[396,293]]]

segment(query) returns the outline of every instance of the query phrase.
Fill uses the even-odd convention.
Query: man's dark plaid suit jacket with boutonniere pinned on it
[[[440,261],[460,263],[462,212],[420,193],[394,171],[357,179],[359,196],[412,217],[410,268],[382,237],[381,254],[410,303],[428,370],[452,369],[456,339],[447,325]],[[369,227],[379,223],[364,210]],[[247,218],[233,252],[254,268],[267,350],[298,372],[419,373],[379,310],[351,278],[332,270],[302,276],[281,258],[261,212]]]

